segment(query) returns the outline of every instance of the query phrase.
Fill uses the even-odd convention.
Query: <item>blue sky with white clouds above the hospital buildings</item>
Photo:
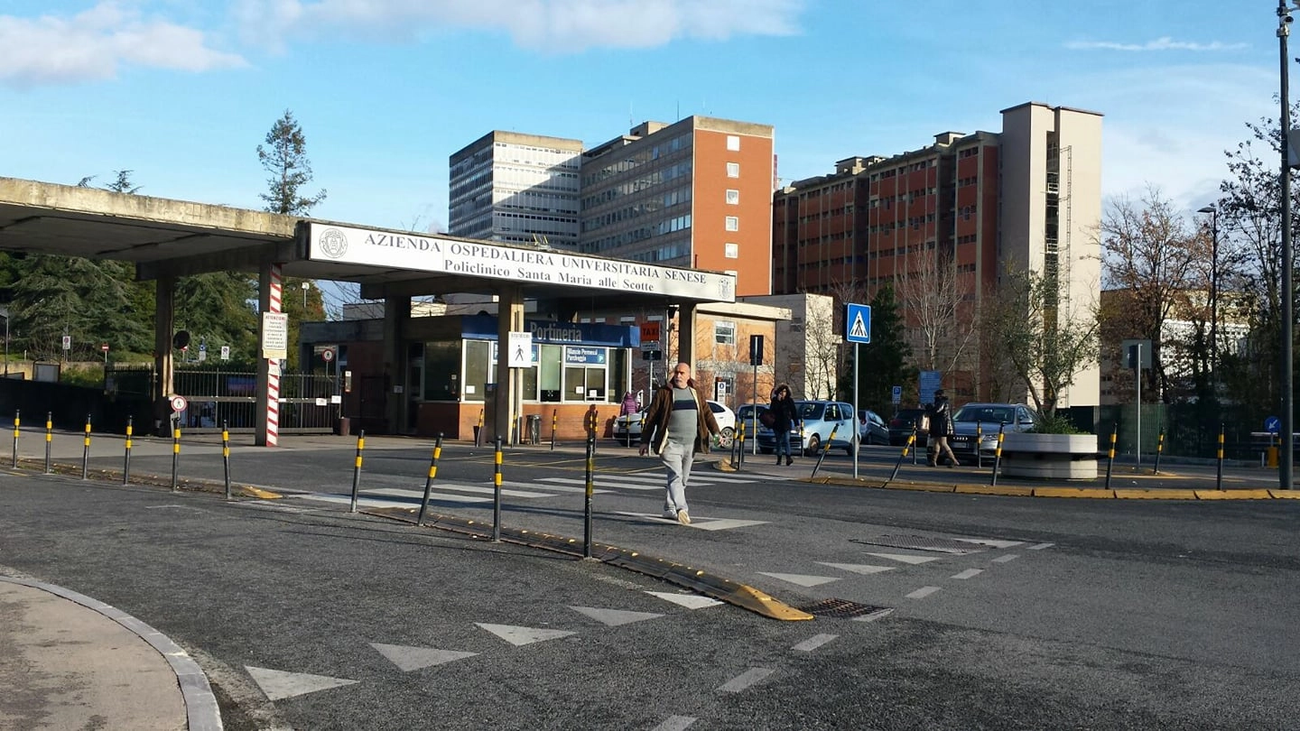
[[[448,156],[494,129],[768,124],[784,185],[1043,101],[1105,116],[1106,200],[1191,212],[1278,116],[1277,26],[1269,0],[0,0],[0,176],[260,209],[287,109],[313,217],[442,230]]]

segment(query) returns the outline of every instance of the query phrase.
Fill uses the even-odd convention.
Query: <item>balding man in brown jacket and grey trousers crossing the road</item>
[[[667,468],[664,518],[690,525],[686,506],[690,467],[697,453],[708,454],[710,437],[716,433],[718,420],[690,377],[690,364],[677,363],[668,382],[655,390],[641,427],[641,454],[654,449]]]

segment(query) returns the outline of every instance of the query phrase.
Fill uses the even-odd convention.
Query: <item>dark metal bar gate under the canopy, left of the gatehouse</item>
[[[109,366],[105,390],[109,394],[152,394],[152,366]],[[247,371],[177,368],[173,388],[188,407],[181,412],[181,427],[190,432],[220,432],[222,423],[231,432],[251,433],[257,428],[257,375]],[[283,373],[280,377],[280,433],[328,434],[341,416],[333,376]]]

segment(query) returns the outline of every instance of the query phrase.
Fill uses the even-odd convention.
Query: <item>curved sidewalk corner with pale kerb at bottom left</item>
[[[172,640],[87,596],[0,576],[0,727],[220,731],[207,676]]]

